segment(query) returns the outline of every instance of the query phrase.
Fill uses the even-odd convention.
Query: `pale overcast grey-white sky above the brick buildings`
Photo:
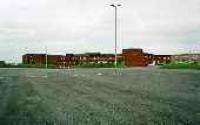
[[[0,60],[25,53],[114,52],[119,45],[154,54],[200,53],[200,0],[0,0]]]

